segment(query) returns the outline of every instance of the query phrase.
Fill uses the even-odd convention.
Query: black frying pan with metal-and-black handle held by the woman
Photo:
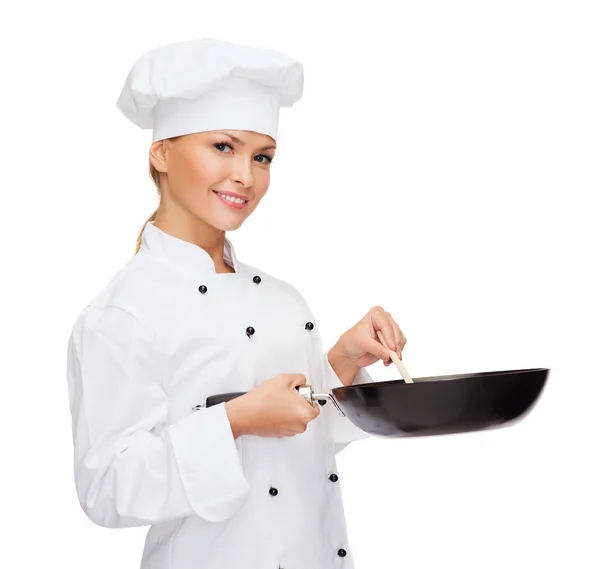
[[[547,368],[438,375],[336,387],[314,393],[296,387],[311,404],[331,401],[359,429],[383,437],[414,437],[482,431],[514,424],[537,402]],[[207,398],[211,407],[245,392]]]

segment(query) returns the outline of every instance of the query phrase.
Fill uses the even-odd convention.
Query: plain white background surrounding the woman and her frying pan
[[[125,76],[148,49],[216,37],[304,64],[269,192],[228,236],[302,291],[325,347],[380,304],[413,377],[551,368],[509,429],[339,455],[357,569],[600,567],[597,6],[3,8],[0,566],[139,566],[147,528],[95,526],[77,502],[66,345],[158,205],[150,131],[115,107]]]

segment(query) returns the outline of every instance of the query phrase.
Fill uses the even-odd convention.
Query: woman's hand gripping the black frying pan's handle
[[[304,433],[319,416],[319,405],[311,405],[296,390],[306,385],[301,373],[282,373],[225,403],[234,438],[240,435],[291,437]]]

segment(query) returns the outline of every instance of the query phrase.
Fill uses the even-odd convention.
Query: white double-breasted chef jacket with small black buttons
[[[336,453],[369,436],[331,402],[293,437],[233,438],[209,395],[302,373],[343,384],[288,282],[146,225],[68,342],[75,486],[96,524],[150,525],[141,569],[354,569]],[[360,370],[354,383],[372,381]]]

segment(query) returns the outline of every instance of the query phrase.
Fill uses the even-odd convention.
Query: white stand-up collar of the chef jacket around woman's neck
[[[219,276],[234,275],[241,271],[240,262],[237,260],[233,244],[225,237],[223,259],[235,269],[235,273],[217,273],[212,257],[202,247],[165,233],[149,221],[144,227],[140,250],[147,250],[152,256],[176,265],[182,265],[191,271],[208,271]]]

